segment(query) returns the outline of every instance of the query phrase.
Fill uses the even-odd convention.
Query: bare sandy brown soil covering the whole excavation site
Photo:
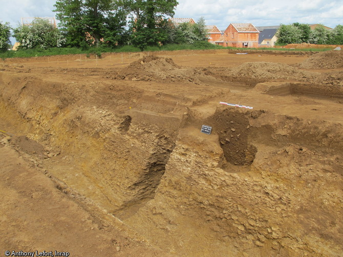
[[[343,52],[246,53],[0,62],[1,254],[341,256]]]

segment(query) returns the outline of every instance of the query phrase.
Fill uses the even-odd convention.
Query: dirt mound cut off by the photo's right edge
[[[343,52],[342,51],[327,51],[315,54],[303,61],[299,67],[301,68],[342,68],[343,67]]]

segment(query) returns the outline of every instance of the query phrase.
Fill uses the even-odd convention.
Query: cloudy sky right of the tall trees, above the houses
[[[175,17],[197,20],[204,16],[207,24],[217,25],[220,29],[225,29],[231,22],[251,22],[255,26],[322,23],[334,28],[342,23],[342,8],[341,1],[326,0],[179,0]]]

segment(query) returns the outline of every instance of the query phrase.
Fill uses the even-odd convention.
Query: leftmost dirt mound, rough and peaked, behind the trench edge
[[[201,69],[183,68],[175,64],[171,58],[145,56],[123,68],[116,78],[132,81],[182,81],[202,84],[199,80],[200,76],[206,76]]]

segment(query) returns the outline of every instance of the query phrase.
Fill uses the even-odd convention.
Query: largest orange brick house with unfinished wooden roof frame
[[[216,44],[234,48],[258,48],[259,33],[251,23],[231,23]]]

